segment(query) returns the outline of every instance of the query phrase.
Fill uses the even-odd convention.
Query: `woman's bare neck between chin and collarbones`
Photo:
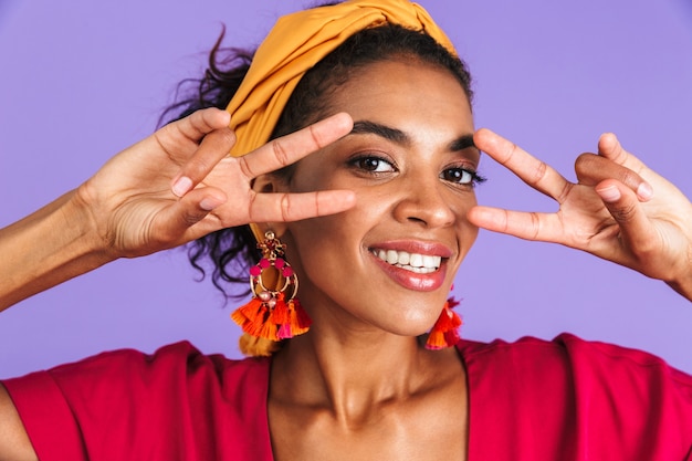
[[[416,337],[382,332],[321,334],[313,328],[275,356],[271,396],[327,410],[350,426],[367,420],[381,405],[428,391],[440,383],[440,364],[450,354],[457,355],[453,349],[427,350]]]

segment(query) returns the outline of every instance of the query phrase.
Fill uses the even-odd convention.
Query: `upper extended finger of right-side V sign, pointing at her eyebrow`
[[[558,203],[563,202],[572,184],[553,167],[487,128],[475,132],[473,142],[479,149],[504,165],[528,186],[557,200]]]

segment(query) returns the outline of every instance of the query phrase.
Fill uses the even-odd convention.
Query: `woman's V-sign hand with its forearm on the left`
[[[219,229],[291,221],[350,208],[350,191],[258,193],[252,181],[349,133],[335,115],[229,157],[229,114],[209,108],[171,123],[108,160],[91,179],[0,229],[0,311],[118,258],[174,248]]]

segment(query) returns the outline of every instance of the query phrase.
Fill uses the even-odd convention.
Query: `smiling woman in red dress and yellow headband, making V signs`
[[[179,344],[151,359],[113,353],[6,381],[6,458],[32,455],[14,406],[39,455],[57,455],[52,438],[67,440],[62,459],[579,459],[606,457],[614,444],[626,459],[688,455],[692,379],[653,357],[570,336],[442,350],[418,336],[451,316],[445,298],[479,226],[593,252],[690,298],[690,202],[612,135],[601,138],[599,155],[579,159],[574,185],[493,133],[474,134],[465,69],[408,2],[347,2],[285,19],[255,69],[281,59],[276,43],[289,34],[317,36],[313,22],[315,48],[328,43],[332,21],[336,31],[344,21],[357,25],[318,65],[306,65],[295,90],[295,75],[275,75],[311,56],[310,46],[281,72],[250,71],[252,84],[229,106],[233,130],[227,114],[197,112],[1,240],[9,306],[114,258],[255,222],[260,240],[274,243],[264,233],[273,231],[286,244],[310,332],[284,340],[271,362],[202,357]],[[303,27],[310,33],[296,32]],[[266,108],[268,99],[280,108]],[[475,207],[479,148],[554,197],[560,211]],[[241,157],[226,157],[229,150]],[[273,174],[279,167],[286,168]],[[48,231],[56,222],[64,232]],[[39,238],[35,263],[12,260],[13,249]],[[262,285],[264,273],[251,274]],[[268,302],[268,291],[255,295]],[[36,405],[41,394],[29,388],[45,402]],[[526,420],[508,423],[514,411]],[[46,412],[59,415],[55,423]]]

